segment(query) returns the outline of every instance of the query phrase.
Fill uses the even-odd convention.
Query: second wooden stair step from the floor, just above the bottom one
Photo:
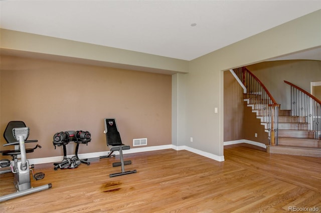
[[[278,137],[278,145],[321,148],[321,140],[311,138]]]

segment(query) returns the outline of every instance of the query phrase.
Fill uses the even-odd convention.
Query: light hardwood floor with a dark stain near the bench
[[[54,170],[32,185],[52,188],[0,203],[0,212],[286,212],[321,211],[321,158],[270,154],[249,144],[225,146],[225,161],[173,149],[126,154],[137,173],[119,172],[115,158]],[[49,167],[48,167],[49,166]],[[0,176],[1,194],[15,191],[13,174]],[[302,212],[302,211],[301,211]],[[308,212],[308,211],[306,211]]]

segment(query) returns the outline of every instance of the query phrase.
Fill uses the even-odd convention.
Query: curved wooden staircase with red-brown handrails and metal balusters
[[[269,153],[321,157],[321,101],[291,85],[291,109],[280,110],[263,83],[246,67],[230,70],[244,89],[244,101],[268,132]]]

